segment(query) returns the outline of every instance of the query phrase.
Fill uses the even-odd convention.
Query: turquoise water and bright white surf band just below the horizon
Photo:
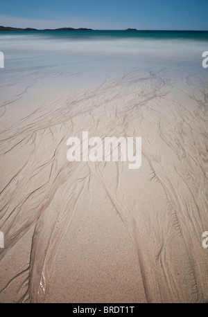
[[[1,31],[1,51],[189,58],[206,51],[208,32]],[[153,55],[154,54],[154,55]]]

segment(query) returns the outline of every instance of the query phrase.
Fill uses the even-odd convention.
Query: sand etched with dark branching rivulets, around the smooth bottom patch
[[[146,302],[208,298],[202,248],[208,230],[207,82],[169,67],[134,71],[79,93],[66,91],[15,118],[15,105],[42,98],[33,93],[40,72],[25,78],[21,89],[14,80],[1,91],[1,270],[21,245],[27,252],[21,269],[4,274],[0,296],[16,285],[11,301],[46,302],[59,247],[83,197],[97,199],[98,181],[135,246]],[[102,139],[141,136],[141,168],[129,170],[121,161],[69,163],[67,138],[81,139],[83,131]]]

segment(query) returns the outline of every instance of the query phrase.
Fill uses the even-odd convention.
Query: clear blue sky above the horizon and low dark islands
[[[208,30],[208,0],[1,0],[0,25]]]

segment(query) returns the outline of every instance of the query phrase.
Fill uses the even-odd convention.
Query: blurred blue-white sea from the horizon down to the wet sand
[[[202,65],[208,31],[9,30],[0,31],[0,51],[4,56],[0,92],[4,94],[3,87],[23,83],[26,89],[26,83],[40,78],[42,90],[73,93],[98,87],[105,80],[158,74],[162,69],[169,78],[197,74],[199,80],[208,80],[208,68]]]

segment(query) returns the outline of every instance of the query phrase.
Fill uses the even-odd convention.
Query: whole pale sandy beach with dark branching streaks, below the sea
[[[1,302],[208,298],[206,70],[114,58],[3,69]],[[141,167],[67,161],[83,131],[141,137]]]

